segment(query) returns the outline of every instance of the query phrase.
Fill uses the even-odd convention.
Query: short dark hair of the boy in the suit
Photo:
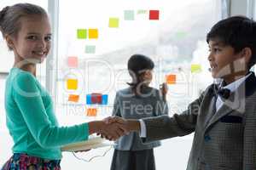
[[[210,40],[217,40],[230,45],[235,53],[241,52],[243,48],[251,48],[252,57],[248,69],[256,63],[256,22],[245,16],[233,16],[218,21],[207,33],[207,43]]]

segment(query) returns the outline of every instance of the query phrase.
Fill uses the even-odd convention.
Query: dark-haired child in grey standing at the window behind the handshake
[[[134,54],[128,61],[132,82],[129,88],[117,92],[113,106],[113,116],[128,119],[167,115],[167,88],[164,84],[163,95],[158,89],[150,88],[154,62],[141,54]],[[143,144],[138,133],[121,137],[114,146],[111,170],[154,170],[154,147],[160,142]]]

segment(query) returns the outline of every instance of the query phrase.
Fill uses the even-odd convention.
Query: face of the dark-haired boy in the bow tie
[[[230,45],[210,40],[209,51],[208,60],[213,78],[224,78],[225,80],[234,77],[240,71],[246,71],[246,64],[242,60],[241,52],[235,53],[234,48]]]

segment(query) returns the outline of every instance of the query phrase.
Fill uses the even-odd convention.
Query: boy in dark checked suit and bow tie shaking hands
[[[123,122],[144,142],[194,134],[187,170],[256,169],[256,23],[243,16],[220,20],[207,34],[210,85],[187,111]]]

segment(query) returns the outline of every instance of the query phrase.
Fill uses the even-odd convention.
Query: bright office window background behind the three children
[[[38,78],[55,101],[61,125],[110,116],[117,90],[130,81],[131,54],[146,54],[156,64],[152,86],[169,82],[169,115],[181,113],[213,80],[207,71],[207,31],[218,20],[235,14],[255,18],[254,0],[1,0],[36,3],[49,12],[53,46]],[[0,37],[0,165],[11,156],[12,139],[5,126],[4,84],[14,57]],[[74,82],[70,82],[70,81]],[[108,95],[104,105],[90,105],[92,93]],[[93,111],[93,112],[90,112]],[[168,139],[155,149],[160,170],[185,169],[193,134]],[[63,153],[62,169],[109,169],[113,149]]]

